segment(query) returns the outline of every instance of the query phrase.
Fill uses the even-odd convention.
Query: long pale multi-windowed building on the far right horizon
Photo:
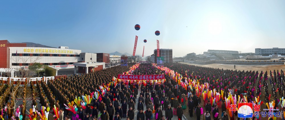
[[[285,48],[278,48],[278,47],[268,48],[268,49],[256,48],[255,54],[285,54]]]

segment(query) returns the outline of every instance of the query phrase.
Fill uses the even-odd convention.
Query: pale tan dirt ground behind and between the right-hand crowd
[[[189,65],[195,65],[195,66],[201,66],[201,67],[210,67],[210,68],[223,68],[223,69],[230,69],[230,70],[245,70],[245,71],[249,71],[249,70],[255,70],[258,71],[260,73],[260,71],[267,71],[268,73],[270,72],[270,70],[273,72],[274,70],[277,72],[277,70],[284,70],[285,69],[285,65],[236,65],[234,69],[234,65],[230,65],[230,64],[207,64],[207,65],[200,65],[200,64],[192,64],[192,63],[186,63],[183,62],[183,64],[189,64]],[[273,94],[271,91],[271,85],[270,85],[270,81],[266,80],[266,82],[268,83],[268,93],[269,94]],[[255,86],[257,86],[257,83],[255,84]],[[275,86],[276,87],[276,86]],[[264,101],[264,89],[263,87],[261,88],[261,97],[259,98],[260,100]],[[256,92],[256,91],[255,91]],[[281,98],[279,96],[279,92],[277,92],[277,97]],[[270,102],[273,100],[273,97],[270,97]],[[203,102],[201,103],[202,105],[204,104]],[[188,108],[188,107],[187,107]],[[279,107],[280,108],[280,107]],[[263,104],[260,106],[260,110],[263,111],[263,109],[266,109],[266,104]],[[280,110],[281,111],[281,110]],[[185,111],[186,112],[186,111]],[[219,108],[219,117],[221,118],[221,108]],[[184,114],[186,116],[186,118],[188,119],[193,119],[190,118],[189,113],[188,114]],[[261,117],[261,115],[260,115]],[[196,115],[194,115],[194,119],[196,119]],[[203,119],[203,118],[201,118]],[[205,119],[205,118],[204,118]],[[213,119],[212,115],[211,115],[211,119]],[[237,119],[237,116],[235,116],[235,119]],[[268,120],[268,117],[261,117],[262,120]],[[277,117],[276,120],[281,120],[280,117]]]

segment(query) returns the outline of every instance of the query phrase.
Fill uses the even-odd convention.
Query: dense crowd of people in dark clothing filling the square
[[[215,104],[211,104],[208,99],[204,100],[202,95],[199,94],[203,92],[199,91],[201,90],[200,86],[199,90],[191,85],[183,87],[180,82],[188,83],[189,81],[184,79],[188,78],[200,84],[208,83],[208,90],[220,93],[221,98],[240,96],[241,99],[246,99],[248,102],[256,102],[255,97],[259,97],[264,102],[260,108],[268,108],[266,103],[269,104],[274,100],[274,108],[280,109],[280,117],[284,119],[282,99],[281,104],[278,104],[280,103],[279,98],[285,95],[284,72],[282,70],[280,72],[274,70],[273,72],[266,71],[264,73],[261,71],[259,73],[258,71],[223,70],[180,63],[165,63],[164,67],[181,75],[183,79],[178,82],[165,71],[157,69],[153,64],[142,63],[137,68],[131,68],[131,71],[130,66],[135,64],[129,63],[128,65],[106,68],[88,74],[72,75],[66,78],[61,77],[57,80],[50,80],[47,84],[44,81],[37,81],[36,87],[31,86],[32,105],[36,106],[36,110],[39,110],[40,106],[50,107],[51,109],[54,106],[61,108],[59,120],[120,120],[122,118],[134,120],[135,116],[137,120],[171,120],[174,119],[174,116],[181,120],[183,114],[196,117],[197,120],[201,118],[206,120],[242,119],[237,117],[237,112],[229,115],[231,113],[226,108],[225,100],[221,99]],[[119,82],[115,85],[113,84],[115,82],[113,77],[117,77],[118,74],[165,74],[165,81],[160,83],[147,81],[147,84],[144,85],[139,81],[128,81],[126,84],[123,81],[116,80]],[[108,85],[110,83],[112,84]],[[11,104],[7,104],[9,97],[7,98],[6,94],[8,93],[7,90],[11,89],[11,85],[4,85],[2,81],[0,86],[0,108],[9,107]],[[108,87],[110,90],[102,89],[102,86]],[[268,87],[271,90],[268,90]],[[35,93],[35,90],[38,92]],[[203,90],[207,91],[207,88],[205,87]],[[75,113],[65,109],[64,104],[74,101],[75,98],[91,95],[92,92],[100,93],[101,98],[93,99],[90,104],[85,106],[73,104],[74,108],[78,108]],[[37,95],[40,105],[35,100]],[[81,100],[80,103],[84,103],[84,101]],[[274,111],[274,114],[276,112]],[[22,114],[25,114],[25,112]],[[4,114],[2,118],[10,120],[11,117],[12,113],[10,111],[8,114]],[[36,113],[32,113],[33,118],[36,118]],[[253,115],[251,119],[260,120],[261,118]],[[269,117],[269,119],[274,119],[274,117]]]

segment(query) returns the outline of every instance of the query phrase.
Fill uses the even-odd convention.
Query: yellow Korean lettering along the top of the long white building
[[[38,53],[67,53],[67,54],[72,54],[72,53],[73,53],[73,50],[24,49],[24,52],[38,52]]]

